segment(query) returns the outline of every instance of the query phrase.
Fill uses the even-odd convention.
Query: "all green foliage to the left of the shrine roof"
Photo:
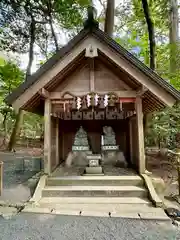
[[[89,3],[89,0],[1,0],[0,50],[18,54],[30,53],[32,37],[30,26],[33,22],[35,23],[35,43],[33,45],[38,47],[38,54],[47,60],[52,52],[57,50],[54,43],[55,38],[57,38],[57,42],[59,41],[59,32],[68,30],[71,37],[82,27]],[[23,79],[24,73],[15,63],[0,61],[0,125],[2,125],[5,135],[8,133],[8,136],[5,137],[9,137],[15,121],[15,114],[13,109],[3,102],[3,99]],[[41,134],[42,118],[30,113],[25,114],[21,135],[35,137],[35,135]]]

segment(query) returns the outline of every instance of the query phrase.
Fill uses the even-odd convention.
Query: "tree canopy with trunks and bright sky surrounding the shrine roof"
[[[177,1],[127,0],[120,1],[119,5],[115,1],[115,9],[114,1],[93,2],[94,7],[97,8],[100,27],[109,34],[113,33],[112,36],[118,43],[180,90],[180,52],[177,28],[179,16],[172,3],[175,2],[178,6]],[[24,54],[28,56],[26,71],[22,71],[20,64],[14,61],[1,60],[2,64],[0,62],[0,84],[2,86],[0,101],[3,116],[1,125],[3,129],[6,116],[2,109],[7,108],[8,112],[11,112],[8,114],[12,122],[15,121],[13,111],[2,103],[4,97],[32,73],[32,64],[37,57],[39,57],[39,61],[36,61],[38,67],[80,31],[89,4],[92,4],[92,1],[0,1],[0,50],[5,53],[15,53],[19,56],[19,63]],[[115,16],[114,20],[111,14]],[[148,116],[146,144],[162,143],[165,146],[174,147],[175,136],[180,131],[179,115],[180,107],[175,106]],[[25,135],[30,134],[29,129],[35,129],[36,123],[31,114],[26,115],[22,129],[24,126],[28,126],[28,130],[21,131]],[[12,127],[9,127],[6,132],[10,135],[11,130]],[[42,131],[42,124],[37,129],[38,134],[40,131]],[[33,133],[34,135],[36,134]]]

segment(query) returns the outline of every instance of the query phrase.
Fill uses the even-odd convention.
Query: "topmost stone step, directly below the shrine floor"
[[[49,177],[47,186],[143,186],[144,181],[140,176],[69,176]]]

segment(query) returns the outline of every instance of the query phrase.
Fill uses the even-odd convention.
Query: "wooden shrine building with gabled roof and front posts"
[[[143,115],[179,100],[175,88],[88,19],[6,102],[44,115],[45,173],[66,161],[81,126],[94,154],[101,154],[103,127],[110,126],[128,164],[144,173]]]

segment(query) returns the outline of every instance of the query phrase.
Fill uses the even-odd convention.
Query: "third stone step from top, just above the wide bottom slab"
[[[53,206],[57,204],[122,204],[122,205],[152,205],[152,203],[147,198],[140,197],[43,197],[40,199],[39,204],[42,206],[44,204],[52,204]]]

